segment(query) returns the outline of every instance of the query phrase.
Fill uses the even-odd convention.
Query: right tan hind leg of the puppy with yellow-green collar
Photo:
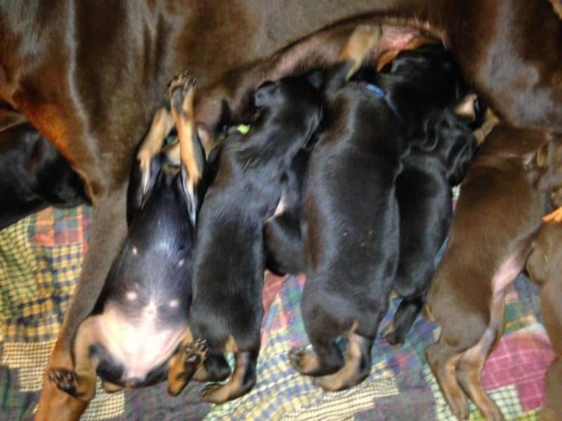
[[[211,383],[201,391],[201,399],[211,403],[223,403],[247,394],[256,384],[256,364],[259,349],[235,353],[233,375],[226,384]]]

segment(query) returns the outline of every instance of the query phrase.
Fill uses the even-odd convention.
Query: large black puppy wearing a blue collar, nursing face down
[[[327,390],[370,373],[370,349],[398,267],[396,180],[412,142],[433,116],[459,100],[459,79],[440,46],[403,53],[379,89],[346,83],[351,65],[327,76],[325,131],[311,155],[303,199],[307,281],[301,310],[313,349],[292,366]],[[345,359],[336,339],[345,335]]]

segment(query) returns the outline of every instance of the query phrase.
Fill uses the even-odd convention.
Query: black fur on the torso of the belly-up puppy
[[[150,182],[144,194],[141,171],[138,166],[131,171],[127,203],[129,232],[92,315],[112,308],[134,322],[142,318],[141,312],[152,302],[157,307],[158,326],[181,328],[188,323],[195,246],[195,227],[187,214],[190,206],[197,207],[197,201],[202,201],[204,185],[199,189],[197,201],[190,203],[192,199],[185,192],[185,174],[180,166],[160,152],[152,158],[150,167]],[[129,291],[136,293],[135,300],[126,299]],[[174,299],[178,305],[170,307],[169,302]],[[126,361],[117,361],[99,344],[93,345],[91,352],[100,359],[98,375],[105,381],[124,385]],[[167,369],[167,366],[155,367],[145,379],[128,380],[127,385],[141,387],[162,381]]]

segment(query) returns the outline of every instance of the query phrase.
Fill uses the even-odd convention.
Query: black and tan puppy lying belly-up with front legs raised
[[[179,141],[162,148],[174,121],[159,112],[138,149],[127,197],[129,232],[93,312],[77,330],[74,370],[49,373],[51,382],[82,401],[93,398],[97,375],[107,392],[115,392],[152,385],[167,374],[169,392],[177,394],[185,371],[200,363],[194,356],[204,354],[204,342],[190,343],[186,335],[205,160],[185,114],[192,95],[191,81],[184,79],[170,88]],[[185,149],[195,159],[185,159]]]

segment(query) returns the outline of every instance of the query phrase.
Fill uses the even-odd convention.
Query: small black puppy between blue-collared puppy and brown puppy
[[[467,94],[436,121],[429,120],[424,147],[412,146],[402,161],[403,171],[396,180],[400,260],[394,290],[403,300],[384,332],[393,345],[404,342],[424,306],[435,270],[433,260],[452,222],[451,189],[462,181],[476,153],[474,102],[474,95]]]

